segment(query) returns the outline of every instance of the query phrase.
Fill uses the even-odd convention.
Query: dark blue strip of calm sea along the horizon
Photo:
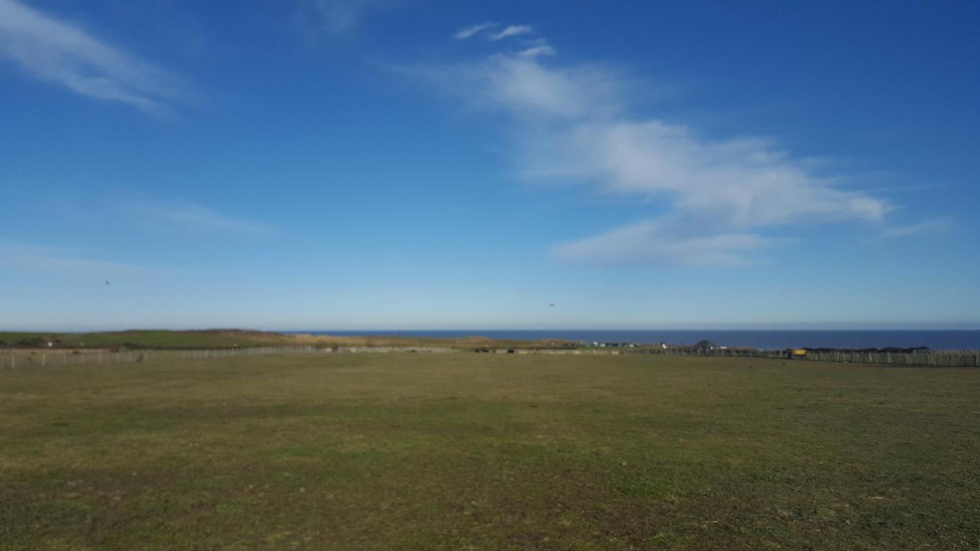
[[[334,335],[402,335],[455,338],[470,335],[487,338],[542,340],[564,338],[599,342],[694,344],[708,339],[721,346],[754,348],[911,348],[933,350],[980,349],[980,330],[413,330],[413,331],[294,331]]]

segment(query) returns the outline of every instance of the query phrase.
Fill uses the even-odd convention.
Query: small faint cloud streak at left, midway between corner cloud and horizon
[[[166,232],[238,237],[268,237],[277,233],[271,225],[235,218],[189,202],[124,201],[117,206],[131,221]]]

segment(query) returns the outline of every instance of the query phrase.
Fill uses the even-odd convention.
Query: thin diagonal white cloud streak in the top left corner
[[[174,75],[19,0],[0,0],[0,58],[75,93],[155,117],[172,116],[172,102],[187,95]]]

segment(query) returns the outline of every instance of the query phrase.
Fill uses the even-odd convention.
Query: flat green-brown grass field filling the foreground
[[[980,371],[310,354],[0,371],[2,549],[978,549]]]

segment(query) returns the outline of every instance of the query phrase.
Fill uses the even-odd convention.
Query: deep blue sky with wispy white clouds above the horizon
[[[976,328],[978,24],[0,0],[0,327]]]

